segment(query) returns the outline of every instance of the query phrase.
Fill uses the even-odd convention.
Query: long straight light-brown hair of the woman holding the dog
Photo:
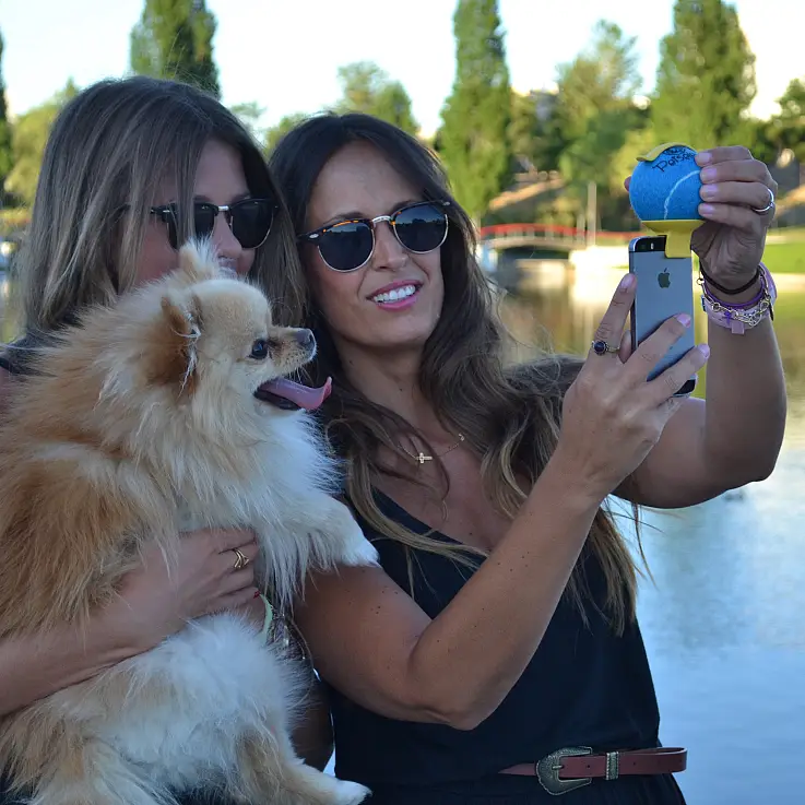
[[[235,115],[180,82],[100,81],[62,109],[45,149],[17,258],[28,334],[58,330],[82,307],[114,304],[131,288],[154,192],[166,178],[178,188],[180,235],[191,234],[196,170],[210,140],[233,147],[250,192],[280,206],[271,235],[254,253],[251,276],[264,285],[269,273],[295,271],[298,253],[287,211],[259,147]],[[287,294],[288,307],[298,309],[294,288]]]

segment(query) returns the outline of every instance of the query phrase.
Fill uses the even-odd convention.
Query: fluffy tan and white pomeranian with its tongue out
[[[329,381],[286,377],[315,352],[209,244],[44,348],[0,429],[0,637],[80,625],[145,544],[169,563],[182,531],[253,529],[258,584],[283,607],[313,567],[374,564],[304,411]],[[294,753],[299,678],[259,626],[210,615],[0,720],[0,768],[35,805],[165,805],[201,784],[254,805],[358,803],[368,789]]]

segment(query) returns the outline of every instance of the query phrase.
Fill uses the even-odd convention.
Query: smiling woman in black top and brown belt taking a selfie
[[[415,139],[321,116],[273,152],[304,267],[286,294],[307,289],[329,433],[381,561],[318,575],[297,623],[331,689],[336,773],[372,805],[684,802],[604,504],[763,478],[785,421],[759,265],[774,182],[745,149],[697,159],[705,293],[749,324],[710,303],[709,348],[647,382],[691,322],[630,354],[628,276],[585,360],[506,366],[470,221]],[[673,398],[710,351],[707,400]]]

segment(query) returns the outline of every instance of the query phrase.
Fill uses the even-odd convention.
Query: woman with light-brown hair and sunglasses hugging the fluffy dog
[[[19,258],[25,334],[1,353],[0,400],[24,382],[31,346],[82,306],[111,303],[169,271],[192,232],[211,234],[233,271],[261,283],[284,267],[293,272],[297,259],[259,150],[215,99],[146,78],[81,93],[59,116],[45,151]],[[81,634],[66,625],[36,640],[0,643],[0,718],[146,651],[189,618],[253,607],[262,623],[251,566],[234,571],[235,548],[253,557],[252,535],[188,534],[170,575],[159,555],[147,556],[119,600]],[[296,737],[306,758],[323,768],[331,747],[325,708],[311,705]],[[177,793],[188,802],[196,796]]]

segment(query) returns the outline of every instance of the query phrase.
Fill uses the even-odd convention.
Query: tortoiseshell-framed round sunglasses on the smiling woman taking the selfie
[[[449,201],[419,201],[391,215],[340,221],[299,236],[299,241],[316,244],[321,259],[333,271],[356,271],[375,251],[375,227],[386,221],[400,245],[415,254],[438,249],[447,239]]]

